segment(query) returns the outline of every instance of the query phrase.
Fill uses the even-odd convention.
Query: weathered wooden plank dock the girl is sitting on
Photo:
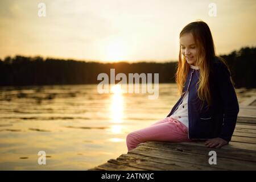
[[[209,151],[216,151],[217,164],[209,164]],[[204,142],[148,141],[88,170],[256,170],[256,97],[240,104],[232,140],[220,149],[205,147]]]

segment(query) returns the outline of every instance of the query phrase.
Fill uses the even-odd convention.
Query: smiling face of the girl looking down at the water
[[[180,49],[188,64],[196,65],[196,43],[191,33],[180,37]]]

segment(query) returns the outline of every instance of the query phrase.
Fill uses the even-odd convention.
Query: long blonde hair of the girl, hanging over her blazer
[[[183,30],[181,30],[180,37],[188,33],[191,33],[193,35],[193,38],[195,39],[197,51],[196,65],[200,67],[200,78],[199,82],[197,82],[197,84],[199,84],[197,95],[200,100],[203,101],[203,105],[206,101],[208,106],[210,106],[212,104],[209,84],[210,65],[212,64],[213,58],[217,57],[215,53],[212,34],[207,23],[201,20],[187,24],[187,26],[185,26]],[[222,59],[221,57],[218,58],[220,59],[220,61],[222,61],[222,63],[226,65],[224,59]],[[188,71],[189,64],[185,60],[184,56],[182,56],[180,47],[179,63],[177,65],[177,72],[175,75],[175,81],[177,83],[179,95],[183,94],[182,91],[185,85],[185,80],[188,76]]]

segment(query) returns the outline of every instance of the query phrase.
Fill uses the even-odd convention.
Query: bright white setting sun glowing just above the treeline
[[[127,57],[127,47],[125,42],[116,39],[108,43],[108,60],[109,61],[121,61]]]

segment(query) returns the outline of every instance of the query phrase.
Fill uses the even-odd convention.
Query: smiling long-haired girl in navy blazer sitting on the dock
[[[128,151],[148,140],[206,139],[205,146],[216,148],[230,141],[239,111],[237,96],[225,61],[215,55],[205,22],[192,22],[181,30],[175,79],[180,99],[166,118],[128,134]]]

